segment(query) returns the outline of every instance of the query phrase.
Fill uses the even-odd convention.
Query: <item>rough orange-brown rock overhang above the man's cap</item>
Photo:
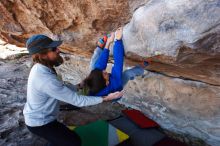
[[[100,34],[132,16],[129,1],[123,0],[10,0],[1,1],[0,8],[1,37],[7,42],[23,45],[31,35],[42,33],[63,40],[63,48],[81,55],[90,54]]]

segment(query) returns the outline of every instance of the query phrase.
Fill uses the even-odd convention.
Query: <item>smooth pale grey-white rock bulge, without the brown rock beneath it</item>
[[[177,56],[179,48],[220,51],[219,0],[153,0],[137,9],[124,30],[126,51]],[[209,41],[209,42],[208,42]]]

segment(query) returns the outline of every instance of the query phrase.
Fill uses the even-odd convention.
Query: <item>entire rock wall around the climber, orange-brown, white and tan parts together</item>
[[[121,103],[164,128],[220,143],[219,0],[0,1],[0,37],[24,46],[33,34],[63,40],[75,56],[59,68],[78,83],[88,74],[95,43],[124,27],[126,64],[149,56],[149,74],[130,82]],[[160,54],[159,56],[155,56]]]

